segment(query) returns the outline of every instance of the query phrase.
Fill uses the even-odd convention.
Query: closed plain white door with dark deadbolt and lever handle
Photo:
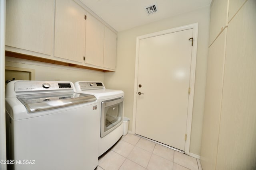
[[[180,150],[185,149],[191,37],[193,29],[186,29],[140,39],[138,46],[135,133]]]

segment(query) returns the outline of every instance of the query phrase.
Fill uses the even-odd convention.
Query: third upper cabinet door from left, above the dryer
[[[88,14],[86,19],[85,63],[102,67],[103,55],[104,25]]]

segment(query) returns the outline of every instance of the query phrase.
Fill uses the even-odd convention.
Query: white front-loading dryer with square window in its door
[[[123,134],[124,92],[106,89],[102,82],[75,82],[79,93],[92,94],[99,100],[100,131],[99,152],[101,156],[110,149]]]

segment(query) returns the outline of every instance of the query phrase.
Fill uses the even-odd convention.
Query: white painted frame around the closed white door
[[[175,27],[171,29],[166,29],[163,31],[158,31],[154,33],[149,33],[146,35],[141,35],[136,38],[136,60],[135,60],[135,76],[134,76],[134,98],[133,98],[133,115],[132,115],[132,134],[135,134],[135,124],[136,124],[136,107],[137,107],[137,84],[138,84],[138,66],[139,66],[139,46],[140,39],[145,39],[149,37],[154,37],[158,35],[164,35],[168,33],[174,33],[177,31],[184,31],[186,29],[193,29],[193,47],[191,53],[191,67],[190,67],[190,95],[188,96],[188,115],[186,123],[186,134],[187,140],[185,141],[185,154],[189,155],[190,150],[190,139],[191,139],[191,125],[192,125],[192,113],[193,113],[193,102],[194,102],[194,86],[195,86],[195,74],[196,74],[196,53],[197,53],[197,40],[198,40],[198,23],[192,23],[189,25],[184,25],[181,27]]]

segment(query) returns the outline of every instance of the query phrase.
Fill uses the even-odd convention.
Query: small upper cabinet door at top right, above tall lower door
[[[211,5],[209,46],[225,28],[228,18],[228,0],[213,0]]]

